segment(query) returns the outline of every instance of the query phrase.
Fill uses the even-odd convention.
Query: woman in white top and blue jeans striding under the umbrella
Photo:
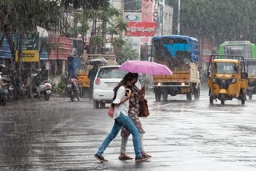
[[[135,161],[145,161],[149,159],[149,157],[142,157],[138,129],[134,125],[133,121],[130,120],[130,117],[128,117],[129,99],[131,96],[130,87],[135,81],[136,79],[134,79],[134,74],[128,73],[114,88],[114,125],[109,135],[102,142],[98,152],[94,155],[98,161],[107,161],[102,157],[102,154],[110,142],[118,135],[118,132],[122,127],[128,129],[133,135]]]

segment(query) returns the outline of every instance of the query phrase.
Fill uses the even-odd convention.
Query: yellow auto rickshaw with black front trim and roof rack
[[[211,55],[207,75],[210,105],[217,99],[224,105],[233,98],[245,104],[248,74],[242,56]]]

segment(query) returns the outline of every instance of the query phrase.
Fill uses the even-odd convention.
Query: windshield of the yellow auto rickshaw
[[[236,74],[237,67],[235,63],[223,62],[214,63],[214,74]]]

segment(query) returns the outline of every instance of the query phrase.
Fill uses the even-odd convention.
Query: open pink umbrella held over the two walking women
[[[126,70],[131,73],[150,75],[172,75],[173,72],[162,64],[148,61],[127,61],[119,67],[119,70]]]

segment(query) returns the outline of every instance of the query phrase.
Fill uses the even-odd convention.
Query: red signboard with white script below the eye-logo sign
[[[156,22],[126,22],[125,36],[154,36],[158,29]]]

